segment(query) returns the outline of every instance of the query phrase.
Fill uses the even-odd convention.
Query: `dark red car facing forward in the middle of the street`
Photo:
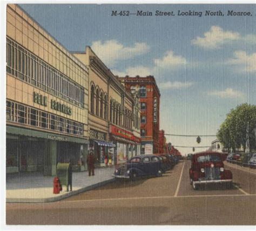
[[[190,168],[190,184],[198,189],[201,184],[225,183],[232,187],[232,172],[224,169],[221,153],[200,152],[193,155]]]

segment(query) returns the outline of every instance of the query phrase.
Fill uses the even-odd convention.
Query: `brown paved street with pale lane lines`
[[[256,174],[228,167],[233,188],[188,181],[190,161],[160,178],[113,184],[51,203],[6,203],[8,225],[255,225]]]

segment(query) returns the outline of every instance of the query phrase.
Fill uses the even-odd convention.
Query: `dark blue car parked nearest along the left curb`
[[[157,155],[137,155],[127,161],[125,165],[117,168],[112,176],[131,180],[144,175],[161,176],[164,172],[163,167],[161,157]]]

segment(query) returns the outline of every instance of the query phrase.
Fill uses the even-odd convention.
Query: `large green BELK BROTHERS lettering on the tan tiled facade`
[[[38,94],[36,92],[33,93],[33,101],[34,103],[47,106],[47,97],[43,96],[42,94]],[[51,99],[51,108],[53,110],[63,112],[65,114],[71,115],[72,109],[71,107],[66,106],[65,104],[61,104],[57,102],[56,100]]]

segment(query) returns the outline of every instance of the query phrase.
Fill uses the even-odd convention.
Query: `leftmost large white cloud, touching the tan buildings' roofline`
[[[91,45],[92,50],[107,65],[111,66],[118,60],[131,59],[149,51],[146,43],[134,43],[133,46],[124,46],[117,40],[95,41]]]

